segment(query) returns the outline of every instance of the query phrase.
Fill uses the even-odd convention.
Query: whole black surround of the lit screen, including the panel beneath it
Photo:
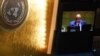
[[[75,53],[75,52],[92,51],[92,42],[93,42],[93,36],[94,36],[93,32],[81,32],[81,33],[80,32],[74,32],[74,33],[64,32],[64,33],[62,33],[61,27],[62,27],[63,11],[94,11],[95,15],[96,15],[97,6],[95,4],[96,3],[93,3],[93,2],[61,2],[61,1],[59,2],[56,29],[55,29],[54,40],[53,40],[53,49],[52,49],[52,52],[54,54],[55,53],[56,54],[62,54],[62,53],[65,54],[66,52],[67,53]],[[78,6],[78,5],[80,5],[80,6]],[[94,24],[95,24],[95,20],[94,20]],[[78,35],[78,34],[80,34],[80,35]],[[75,41],[74,36],[71,36],[71,35],[77,36],[77,38],[76,38],[77,46],[73,50],[71,49],[72,47],[71,48],[67,47],[67,44],[68,44],[67,42],[70,42],[70,40]],[[83,36],[82,39],[80,38],[81,36]],[[85,42],[85,40],[87,40],[87,41]],[[67,43],[66,45],[64,45],[65,49],[63,49],[64,47],[62,47],[63,42]],[[78,51],[76,51],[77,47],[80,46],[80,45],[78,45],[78,44],[80,44],[79,42],[83,44],[83,47],[81,46],[81,48],[78,49]],[[73,45],[71,45],[71,46],[73,46]],[[68,51],[66,51],[66,50],[68,50]]]

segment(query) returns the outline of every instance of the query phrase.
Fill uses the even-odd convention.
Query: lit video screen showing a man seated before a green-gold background
[[[93,11],[63,12],[61,32],[93,31]]]

